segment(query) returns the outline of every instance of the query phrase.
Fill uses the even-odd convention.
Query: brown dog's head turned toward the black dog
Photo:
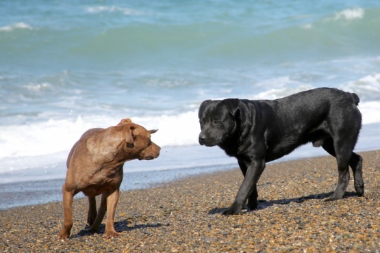
[[[117,125],[123,127],[127,152],[133,153],[132,159],[151,160],[160,155],[160,146],[151,141],[151,134],[157,130],[147,130],[139,124],[133,123],[129,118],[121,120]]]

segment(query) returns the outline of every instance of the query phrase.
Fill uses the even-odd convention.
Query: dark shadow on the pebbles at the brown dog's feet
[[[124,231],[140,229],[144,233],[149,234],[149,232],[145,231],[146,228],[160,228],[162,226],[168,226],[168,224],[160,224],[160,223],[157,223],[157,224],[136,224],[134,226],[128,226],[128,223],[130,223],[130,222],[127,222],[127,219],[124,219],[121,222],[115,222],[114,226],[115,226],[116,232],[124,232]],[[94,235],[94,234],[103,235],[104,233],[105,233],[105,224],[101,224],[99,232],[89,232],[88,228],[86,227],[84,229],[81,229],[76,235],[73,235],[71,237],[73,237],[73,238],[84,237],[84,236]],[[123,235],[121,235],[121,236],[123,236]]]

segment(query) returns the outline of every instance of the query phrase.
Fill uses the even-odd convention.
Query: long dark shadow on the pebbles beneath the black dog
[[[253,212],[253,211],[257,211],[257,210],[267,209],[268,207],[273,207],[276,204],[277,205],[278,204],[290,204],[291,202],[302,203],[306,200],[322,200],[322,199],[327,200],[327,198],[329,198],[329,196],[331,196],[332,194],[333,194],[333,191],[331,191],[329,193],[325,193],[325,194],[312,194],[312,195],[308,195],[308,196],[302,196],[300,198],[283,198],[280,200],[271,200],[271,201],[258,200],[258,205],[257,205],[257,208],[255,210],[249,210],[249,209],[246,209],[246,207],[244,207],[244,211],[246,210],[246,212]],[[344,194],[344,198],[353,198],[353,197],[357,197],[357,194],[354,191],[346,191],[346,193]],[[216,213],[223,213],[225,210],[227,210],[227,207],[223,207],[223,208],[217,207],[217,208],[210,210],[208,214],[212,215],[212,214],[216,214]]]

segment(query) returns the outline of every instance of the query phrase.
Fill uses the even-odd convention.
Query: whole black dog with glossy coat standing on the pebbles
[[[328,200],[343,198],[353,170],[357,195],[364,195],[362,157],[353,152],[362,115],[355,93],[318,88],[273,101],[229,98],[203,101],[199,107],[199,144],[219,146],[238,159],[244,181],[224,214],[257,207],[256,184],[267,161],[288,155],[312,142],[322,146],[338,163],[338,185]]]

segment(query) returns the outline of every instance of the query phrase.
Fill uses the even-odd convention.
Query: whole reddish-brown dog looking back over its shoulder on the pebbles
[[[105,237],[119,235],[114,228],[114,215],[123,165],[125,161],[151,160],[160,155],[160,147],[151,142],[151,133],[156,131],[147,131],[128,118],[114,127],[90,129],[80,137],[68,154],[66,181],[62,186],[64,226],[58,239],[70,237],[73,197],[79,191],[88,196],[89,231],[99,231],[107,211]],[[97,211],[95,196],[100,194],[101,204]]]

